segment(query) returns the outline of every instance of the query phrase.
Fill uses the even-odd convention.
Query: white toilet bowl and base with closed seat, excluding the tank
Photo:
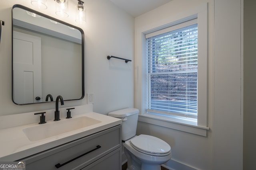
[[[150,135],[135,136],[123,146],[128,159],[127,170],[160,170],[160,165],[172,157],[170,145]]]

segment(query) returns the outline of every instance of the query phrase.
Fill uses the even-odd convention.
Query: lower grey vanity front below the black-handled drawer
[[[82,170],[121,170],[122,149],[116,149],[110,154],[86,166]]]

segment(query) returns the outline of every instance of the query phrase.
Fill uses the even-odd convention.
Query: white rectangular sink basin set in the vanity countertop
[[[28,127],[23,129],[23,132],[30,141],[39,141],[101,122],[90,117],[82,116]]]

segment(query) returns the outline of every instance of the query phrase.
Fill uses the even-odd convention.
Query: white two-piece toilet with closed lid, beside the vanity
[[[139,110],[121,109],[108,113],[122,122],[122,140],[127,157],[127,170],[161,170],[161,164],[172,157],[171,147],[157,137],[150,135],[136,136]]]

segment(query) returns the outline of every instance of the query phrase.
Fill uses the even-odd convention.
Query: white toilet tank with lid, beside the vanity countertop
[[[108,113],[109,116],[122,119],[122,140],[126,141],[136,135],[139,110],[126,108]]]

